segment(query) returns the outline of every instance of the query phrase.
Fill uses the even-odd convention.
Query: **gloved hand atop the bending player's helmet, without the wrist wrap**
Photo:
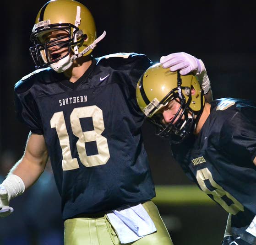
[[[163,68],[170,68],[172,72],[180,70],[180,75],[187,75],[189,73],[198,75],[202,72],[200,60],[184,52],[162,56],[160,63],[163,65]]]

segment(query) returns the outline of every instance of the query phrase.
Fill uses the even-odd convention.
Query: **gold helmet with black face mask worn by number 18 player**
[[[45,34],[60,30],[67,32],[65,38],[45,40]],[[89,55],[104,36],[105,32],[96,39],[95,22],[86,6],[75,0],[50,0],[38,12],[30,36],[34,46],[29,50],[36,68],[50,66],[62,72],[71,66],[74,59]],[[49,48],[55,45],[68,47],[68,52],[52,61]]]

